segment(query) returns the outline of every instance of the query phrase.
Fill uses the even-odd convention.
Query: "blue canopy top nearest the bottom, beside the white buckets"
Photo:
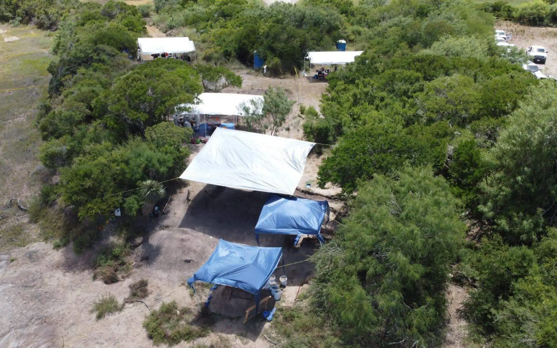
[[[207,262],[188,279],[260,293],[282,257],[282,248],[263,248],[219,240]]]

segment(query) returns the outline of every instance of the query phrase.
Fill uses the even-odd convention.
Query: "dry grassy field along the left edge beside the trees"
[[[0,202],[4,204],[12,197],[30,201],[41,185],[33,175],[40,166],[41,142],[35,111],[38,100],[46,95],[43,85],[50,79],[46,67],[52,59],[48,54],[52,33],[8,25],[0,25],[0,30]],[[6,42],[7,37],[18,40]],[[16,88],[24,89],[6,91]],[[0,220],[0,250],[35,240],[22,223],[25,212],[11,210],[4,211]]]

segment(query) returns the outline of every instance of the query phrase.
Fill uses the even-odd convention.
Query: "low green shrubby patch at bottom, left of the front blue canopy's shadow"
[[[193,314],[187,307],[178,308],[176,301],[163,302],[159,310],[145,317],[143,327],[154,345],[176,345],[181,341],[193,341],[209,334],[204,325],[193,322]]]

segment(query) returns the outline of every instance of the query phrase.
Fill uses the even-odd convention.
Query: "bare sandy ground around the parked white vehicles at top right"
[[[531,27],[524,26],[509,21],[497,22],[497,29],[512,32],[512,40],[521,49],[527,49],[529,46],[544,46],[549,50],[548,59],[545,64],[536,64],[545,75],[557,76],[557,28],[550,27]]]

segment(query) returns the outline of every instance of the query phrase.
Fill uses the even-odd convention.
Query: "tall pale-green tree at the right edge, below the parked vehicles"
[[[480,209],[511,243],[531,243],[554,225],[557,194],[556,87],[544,81],[509,117],[491,156]]]

